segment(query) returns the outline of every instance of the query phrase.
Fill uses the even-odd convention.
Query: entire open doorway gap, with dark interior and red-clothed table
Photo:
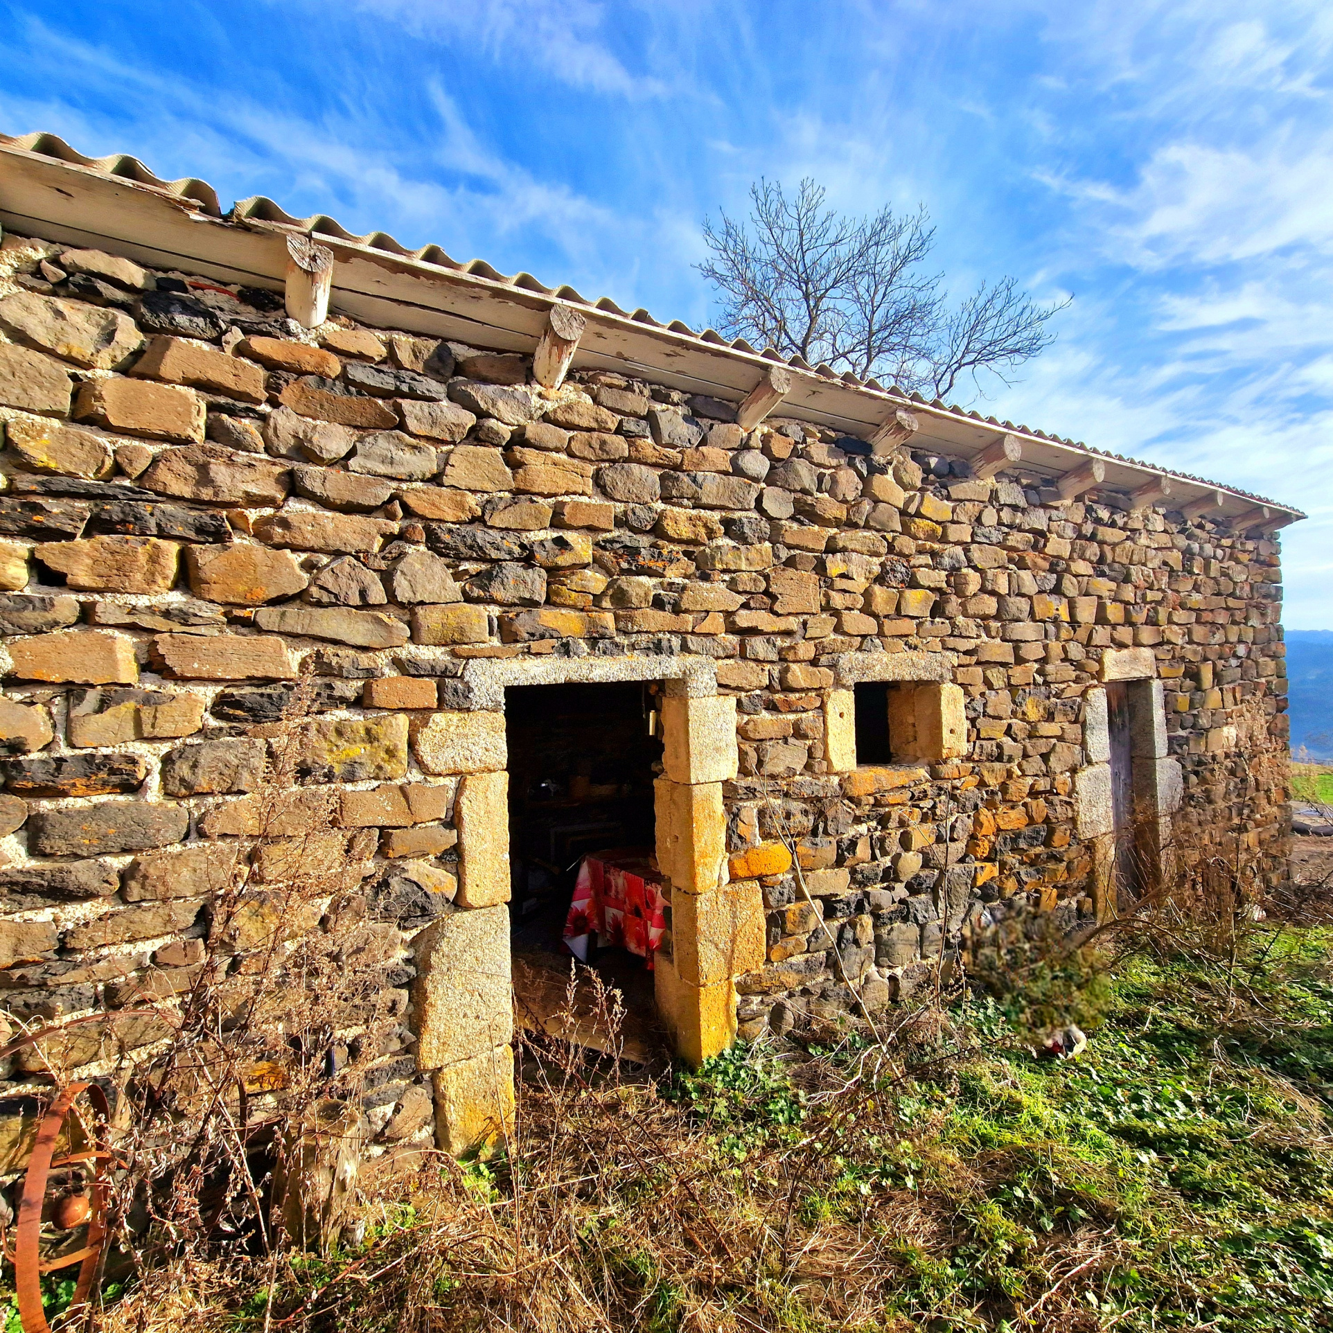
[[[621,1054],[640,1062],[657,1042],[648,917],[659,882],[660,708],[656,681],[511,686],[509,809],[496,810],[509,820],[516,1020],[605,1050],[600,993],[619,992]],[[603,932],[581,928],[589,914]]]

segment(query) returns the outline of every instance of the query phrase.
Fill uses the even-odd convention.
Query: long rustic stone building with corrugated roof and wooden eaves
[[[656,846],[694,1061],[1209,857],[1284,876],[1298,511],[53,136],[0,140],[0,224],[15,1017],[135,1045],[284,725],[271,832],[323,810],[391,934],[371,1118],[451,1149],[601,840]]]

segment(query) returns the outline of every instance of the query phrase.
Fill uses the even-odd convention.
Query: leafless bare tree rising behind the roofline
[[[1054,340],[1050,317],[1068,305],[1037,305],[1012,277],[982,283],[950,311],[941,273],[922,272],[934,228],[921,207],[898,216],[844,217],[824,207],[824,187],[801,181],[788,197],[774,181],[750,187],[745,221],[704,220],[713,257],[698,271],[721,295],[722,332],[876,375],[933,397],[962,376],[1008,375]]]

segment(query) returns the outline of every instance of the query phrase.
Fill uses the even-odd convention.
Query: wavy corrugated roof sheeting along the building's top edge
[[[1116,463],[1126,463],[1137,468],[1146,468],[1152,472],[1157,472],[1166,477],[1174,477],[1181,481],[1193,481],[1197,485],[1204,487],[1221,487],[1220,483],[1212,481],[1208,477],[1200,477],[1190,472],[1176,472],[1170,468],[1164,468],[1157,464],[1144,463],[1138,459],[1130,459],[1122,453],[1112,453],[1108,449],[1097,449],[1092,445],[1084,444],[1078,440],[1070,440],[1066,436],[1050,435],[1046,431],[1037,429],[1036,427],[1016,425],[1009,420],[1001,420],[994,416],[982,416],[980,412],[962,408],[957,404],[945,403],[942,399],[926,399],[917,392],[906,392],[900,389],[897,385],[885,387],[876,379],[860,379],[850,371],[837,372],[826,364],[810,365],[801,356],[784,357],[780,352],[772,347],[764,348],[762,351],[752,347],[745,339],[737,337],[728,340],[721,333],[713,328],[705,328],[702,331],[692,329],[688,324],[681,320],[672,320],[669,324],[661,323],[661,320],[653,319],[648,311],[640,307],[636,311],[625,311],[617,305],[609,296],[599,297],[592,300],[584,296],[581,292],[576,291],[573,287],[547,287],[539,279],[533,277],[532,273],[501,273],[499,269],[493,268],[485,260],[473,259],[467,263],[461,263],[447,251],[439,245],[423,245],[420,249],[409,249],[403,245],[399,240],[391,236],[388,232],[368,232],[365,235],[357,235],[349,232],[336,217],[329,217],[327,213],[312,213],[308,217],[296,217],[287,212],[280,204],[275,203],[272,199],[264,195],[255,195],[251,199],[243,199],[235,203],[231,209],[225,213],[223,212],[221,204],[217,199],[217,192],[207,181],[199,180],[197,177],[183,177],[180,180],[163,180],[160,176],[153,175],[137,157],[131,157],[128,153],[112,153],[107,157],[87,157],[77,149],[71,148],[59,135],[52,133],[32,133],[32,135],[0,135],[0,144],[11,144],[15,148],[20,148],[24,152],[39,153],[44,157],[52,157],[57,161],[71,163],[77,167],[85,167],[91,171],[101,172],[107,176],[119,176],[124,180],[133,181],[137,185],[148,185],[155,189],[163,191],[165,195],[179,199],[189,200],[197,205],[199,211],[205,213],[208,217],[235,217],[247,221],[260,221],[260,223],[276,223],[281,227],[291,227],[296,231],[305,232],[309,235],[328,236],[333,240],[348,241],[355,245],[364,245],[368,249],[383,251],[387,255],[397,256],[399,259],[419,260],[427,264],[435,264],[440,268],[452,269],[459,273],[467,273],[469,277],[483,279],[488,283],[495,283],[500,287],[511,287],[524,292],[533,292],[539,296],[548,296],[561,301],[569,301],[575,305],[583,305],[593,311],[604,311],[608,315],[616,315],[621,319],[633,320],[637,324],[645,324],[651,328],[665,329],[670,333],[677,333],[685,337],[697,339],[701,343],[710,344],[713,347],[728,348],[737,352],[748,353],[749,356],[762,356],[766,360],[776,361],[782,365],[789,365],[793,369],[804,371],[809,375],[818,375],[828,380],[837,380],[841,384],[848,385],[853,389],[864,389],[870,393],[886,395],[893,399],[898,399],[908,404],[920,404],[925,407],[934,408],[941,412],[948,412],[950,416],[961,417],[965,420],[976,421],[978,425],[992,427],[996,431],[1012,432],[1014,435],[1030,436],[1034,440],[1049,440],[1052,444],[1064,445],[1066,448],[1078,449],[1090,456],[1101,459],[1112,459]],[[1253,500],[1257,505],[1273,505],[1274,508],[1284,509],[1290,513],[1296,513],[1300,517],[1305,517],[1298,509],[1292,509],[1290,505],[1284,505],[1277,500],[1270,500],[1266,496],[1254,495],[1250,491],[1240,491],[1236,487],[1221,487],[1229,491],[1232,495],[1244,496],[1248,500]]]

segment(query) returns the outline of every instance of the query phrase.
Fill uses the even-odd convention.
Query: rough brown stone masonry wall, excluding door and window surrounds
[[[1020,910],[1092,917],[1078,774],[1110,653],[1164,684],[1181,854],[1284,873],[1274,543],[734,415],[603,371],[548,391],[523,356],[339,316],[311,333],[268,291],[7,237],[5,1008],[179,989],[285,737],[323,854],[393,932],[376,1124],[428,1133],[415,941],[496,905],[460,897],[456,861],[460,785],[496,765],[440,721],[477,706],[477,659],[696,657],[734,696],[729,876],[766,913],[744,1036],[846,1013],[848,981],[886,1005]],[[961,689],[962,753],[848,768],[846,663],[897,655]]]

